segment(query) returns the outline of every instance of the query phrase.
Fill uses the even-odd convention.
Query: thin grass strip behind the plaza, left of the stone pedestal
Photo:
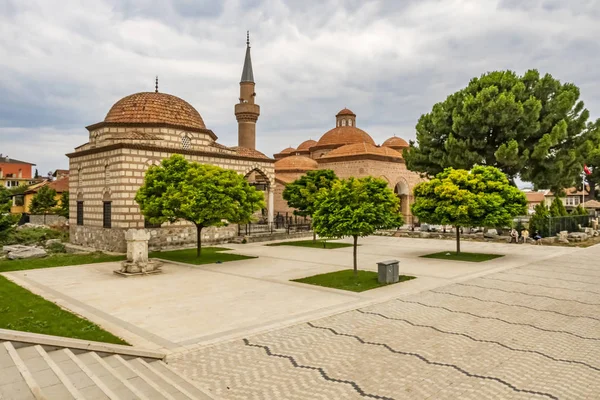
[[[30,260],[2,260],[0,261],[0,272],[94,264],[99,262],[121,261],[124,259],[125,256],[111,256],[100,252],[91,254],[54,254],[46,258],[34,258]]]

